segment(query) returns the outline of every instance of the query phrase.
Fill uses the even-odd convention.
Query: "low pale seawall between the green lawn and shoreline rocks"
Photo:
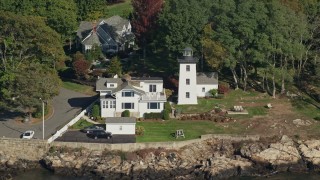
[[[148,148],[164,148],[164,149],[180,149],[184,146],[200,143],[208,139],[220,139],[220,140],[231,140],[231,141],[258,141],[260,136],[257,135],[230,135],[230,134],[208,134],[202,135],[199,139],[192,139],[186,141],[171,141],[171,142],[149,142],[149,143],[123,143],[123,144],[106,144],[106,143],[81,143],[81,142],[54,142],[53,146],[66,146],[70,148],[86,148],[90,150],[109,150],[109,151],[123,151],[132,152],[141,149]]]

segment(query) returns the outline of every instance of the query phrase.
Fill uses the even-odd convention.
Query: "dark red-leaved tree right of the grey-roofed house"
[[[132,27],[138,43],[146,56],[146,46],[150,42],[156,20],[163,6],[163,0],[132,0],[133,21]]]

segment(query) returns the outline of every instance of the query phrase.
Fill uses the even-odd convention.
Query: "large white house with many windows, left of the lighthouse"
[[[101,117],[121,117],[125,110],[130,116],[143,117],[144,113],[160,113],[166,95],[163,80],[158,77],[100,78],[96,82],[100,93]]]

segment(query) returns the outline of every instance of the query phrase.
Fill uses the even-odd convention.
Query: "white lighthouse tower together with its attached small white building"
[[[184,49],[178,62],[178,104],[198,104],[198,97],[211,96],[210,90],[218,89],[217,73],[197,73],[198,59],[193,57],[191,48]]]

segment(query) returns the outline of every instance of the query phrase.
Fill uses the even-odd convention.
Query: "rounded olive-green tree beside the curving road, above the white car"
[[[20,106],[31,118],[32,112],[43,100],[50,100],[58,95],[60,79],[55,70],[39,63],[22,65],[15,70],[14,80],[6,87],[11,92],[9,96],[2,96],[2,100],[11,107]]]

